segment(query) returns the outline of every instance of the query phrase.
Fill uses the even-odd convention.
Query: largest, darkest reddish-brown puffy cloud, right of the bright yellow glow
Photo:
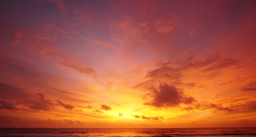
[[[173,85],[161,83],[159,89],[154,89],[150,93],[152,99],[149,102],[144,102],[145,105],[154,107],[177,107],[180,104],[191,104],[196,102],[195,98],[184,95],[179,92]]]

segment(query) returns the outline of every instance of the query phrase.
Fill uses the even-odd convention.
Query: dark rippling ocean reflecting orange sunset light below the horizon
[[[253,137],[256,128],[0,128],[0,137]]]

